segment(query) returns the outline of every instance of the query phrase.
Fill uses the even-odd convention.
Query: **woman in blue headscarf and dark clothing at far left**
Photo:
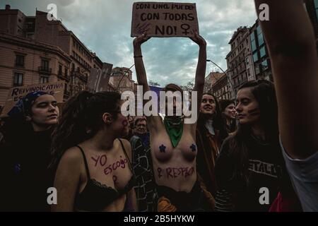
[[[51,136],[59,108],[53,95],[28,93],[8,112],[1,143],[0,210],[49,211]]]

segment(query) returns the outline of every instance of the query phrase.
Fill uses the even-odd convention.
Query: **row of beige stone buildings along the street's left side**
[[[0,9],[0,35],[0,105],[13,86],[15,72],[23,74],[21,85],[39,83],[40,76],[49,77],[49,82],[66,81],[64,100],[67,100],[88,89],[90,69],[102,69],[98,56],[60,20],[47,20],[46,12],[36,11],[35,16],[25,16],[6,5]],[[23,67],[15,65],[16,54],[25,56]],[[42,59],[49,61],[49,70],[41,69]],[[129,81],[123,81],[126,83]],[[114,90],[114,86],[110,86],[110,90]]]

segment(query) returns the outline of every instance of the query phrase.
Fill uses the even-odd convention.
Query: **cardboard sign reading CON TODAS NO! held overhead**
[[[151,37],[194,37],[194,32],[199,34],[196,4],[135,2],[131,37],[144,32]]]

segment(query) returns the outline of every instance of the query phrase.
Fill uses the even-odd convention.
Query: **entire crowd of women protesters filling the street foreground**
[[[204,93],[206,41],[195,33],[193,124],[177,115],[177,99],[172,116],[124,117],[115,92],[81,91],[61,111],[53,95],[25,95],[1,119],[0,210],[318,211],[313,30],[301,0],[255,0],[264,3],[274,83],[248,81],[235,100]],[[133,43],[144,93],[141,45],[149,39]],[[172,83],[163,90],[183,92]],[[51,187],[57,203],[49,205]]]

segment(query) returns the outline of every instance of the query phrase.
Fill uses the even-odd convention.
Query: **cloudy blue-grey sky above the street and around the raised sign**
[[[143,1],[143,0],[136,0]],[[154,0],[153,0],[154,1]],[[163,2],[165,0],[160,0]],[[171,1],[171,0],[170,0]],[[251,26],[257,16],[252,0],[175,0],[196,3],[199,30],[207,42],[208,59],[224,71],[228,44],[233,32],[240,26]],[[130,37],[132,0],[1,0],[0,7],[10,4],[26,16],[35,16],[35,8],[48,11],[48,4],[57,5],[57,18],[72,30],[98,57],[114,66],[130,67],[134,54]],[[199,47],[187,37],[152,38],[143,44],[143,61],[148,80],[160,85],[184,85],[194,81]],[[133,79],[136,81],[136,73]],[[207,64],[206,75],[217,71]]]

